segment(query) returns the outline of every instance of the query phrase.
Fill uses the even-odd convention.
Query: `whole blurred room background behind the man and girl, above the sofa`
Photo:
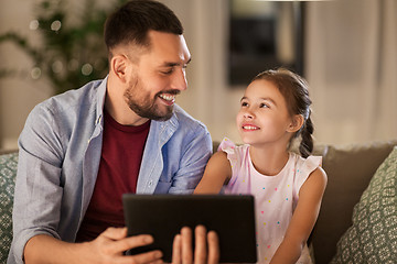
[[[397,139],[397,1],[161,0],[192,53],[176,102],[214,140],[239,142],[248,81],[279,66],[310,84],[315,140]],[[0,148],[17,148],[32,108],[106,75],[106,15],[122,0],[0,0]]]

